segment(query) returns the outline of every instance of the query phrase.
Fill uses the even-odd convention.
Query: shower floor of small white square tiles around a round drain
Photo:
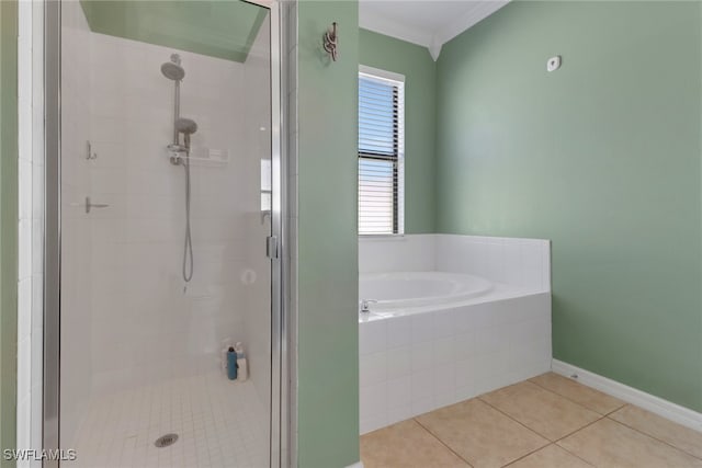
[[[174,444],[154,445],[169,433]],[[71,448],[71,468],[263,468],[268,413],[250,380],[181,378],[91,401]]]

